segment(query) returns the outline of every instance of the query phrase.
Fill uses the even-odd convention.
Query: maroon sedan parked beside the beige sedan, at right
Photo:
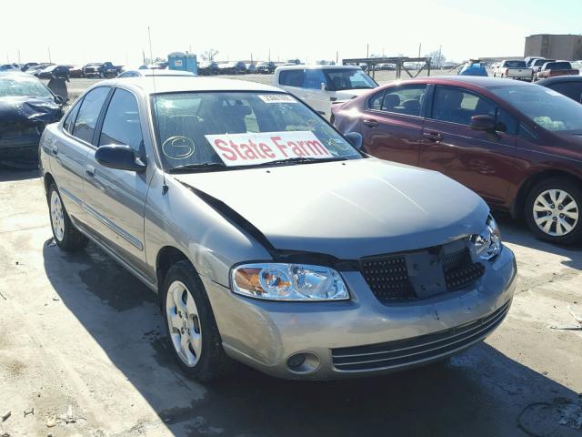
[[[423,77],[332,107],[377,158],[440,171],[541,239],[582,240],[582,105],[552,89],[473,76]]]

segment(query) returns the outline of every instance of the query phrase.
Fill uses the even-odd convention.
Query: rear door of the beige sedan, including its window
[[[110,89],[109,86],[96,87],[76,102],[63,121],[63,135],[55,137],[55,142],[48,147],[56,185],[67,213],[77,223],[85,222],[82,201],[85,164],[92,150],[97,118]]]

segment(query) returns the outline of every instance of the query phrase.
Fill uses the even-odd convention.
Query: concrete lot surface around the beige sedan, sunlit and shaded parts
[[[241,368],[187,380],[156,297],[93,245],[52,242],[35,172],[0,169],[0,435],[580,436],[580,248],[499,216],[517,255],[507,320],[453,359],[356,381],[279,381]],[[34,412],[33,412],[34,410]],[[28,413],[27,413],[28,412]]]

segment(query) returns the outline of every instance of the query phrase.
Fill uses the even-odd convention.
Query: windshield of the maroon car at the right
[[[554,132],[582,131],[582,105],[544,86],[495,86],[498,97]]]

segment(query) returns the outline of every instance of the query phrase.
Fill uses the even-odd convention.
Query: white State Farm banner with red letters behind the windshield
[[[206,135],[206,139],[228,167],[254,166],[279,159],[333,157],[309,131]]]

